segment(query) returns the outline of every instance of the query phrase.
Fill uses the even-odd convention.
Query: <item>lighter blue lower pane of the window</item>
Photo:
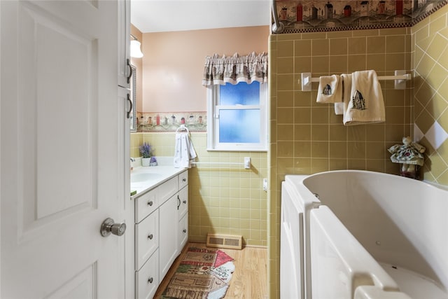
[[[260,109],[220,110],[219,129],[219,142],[258,143]]]

